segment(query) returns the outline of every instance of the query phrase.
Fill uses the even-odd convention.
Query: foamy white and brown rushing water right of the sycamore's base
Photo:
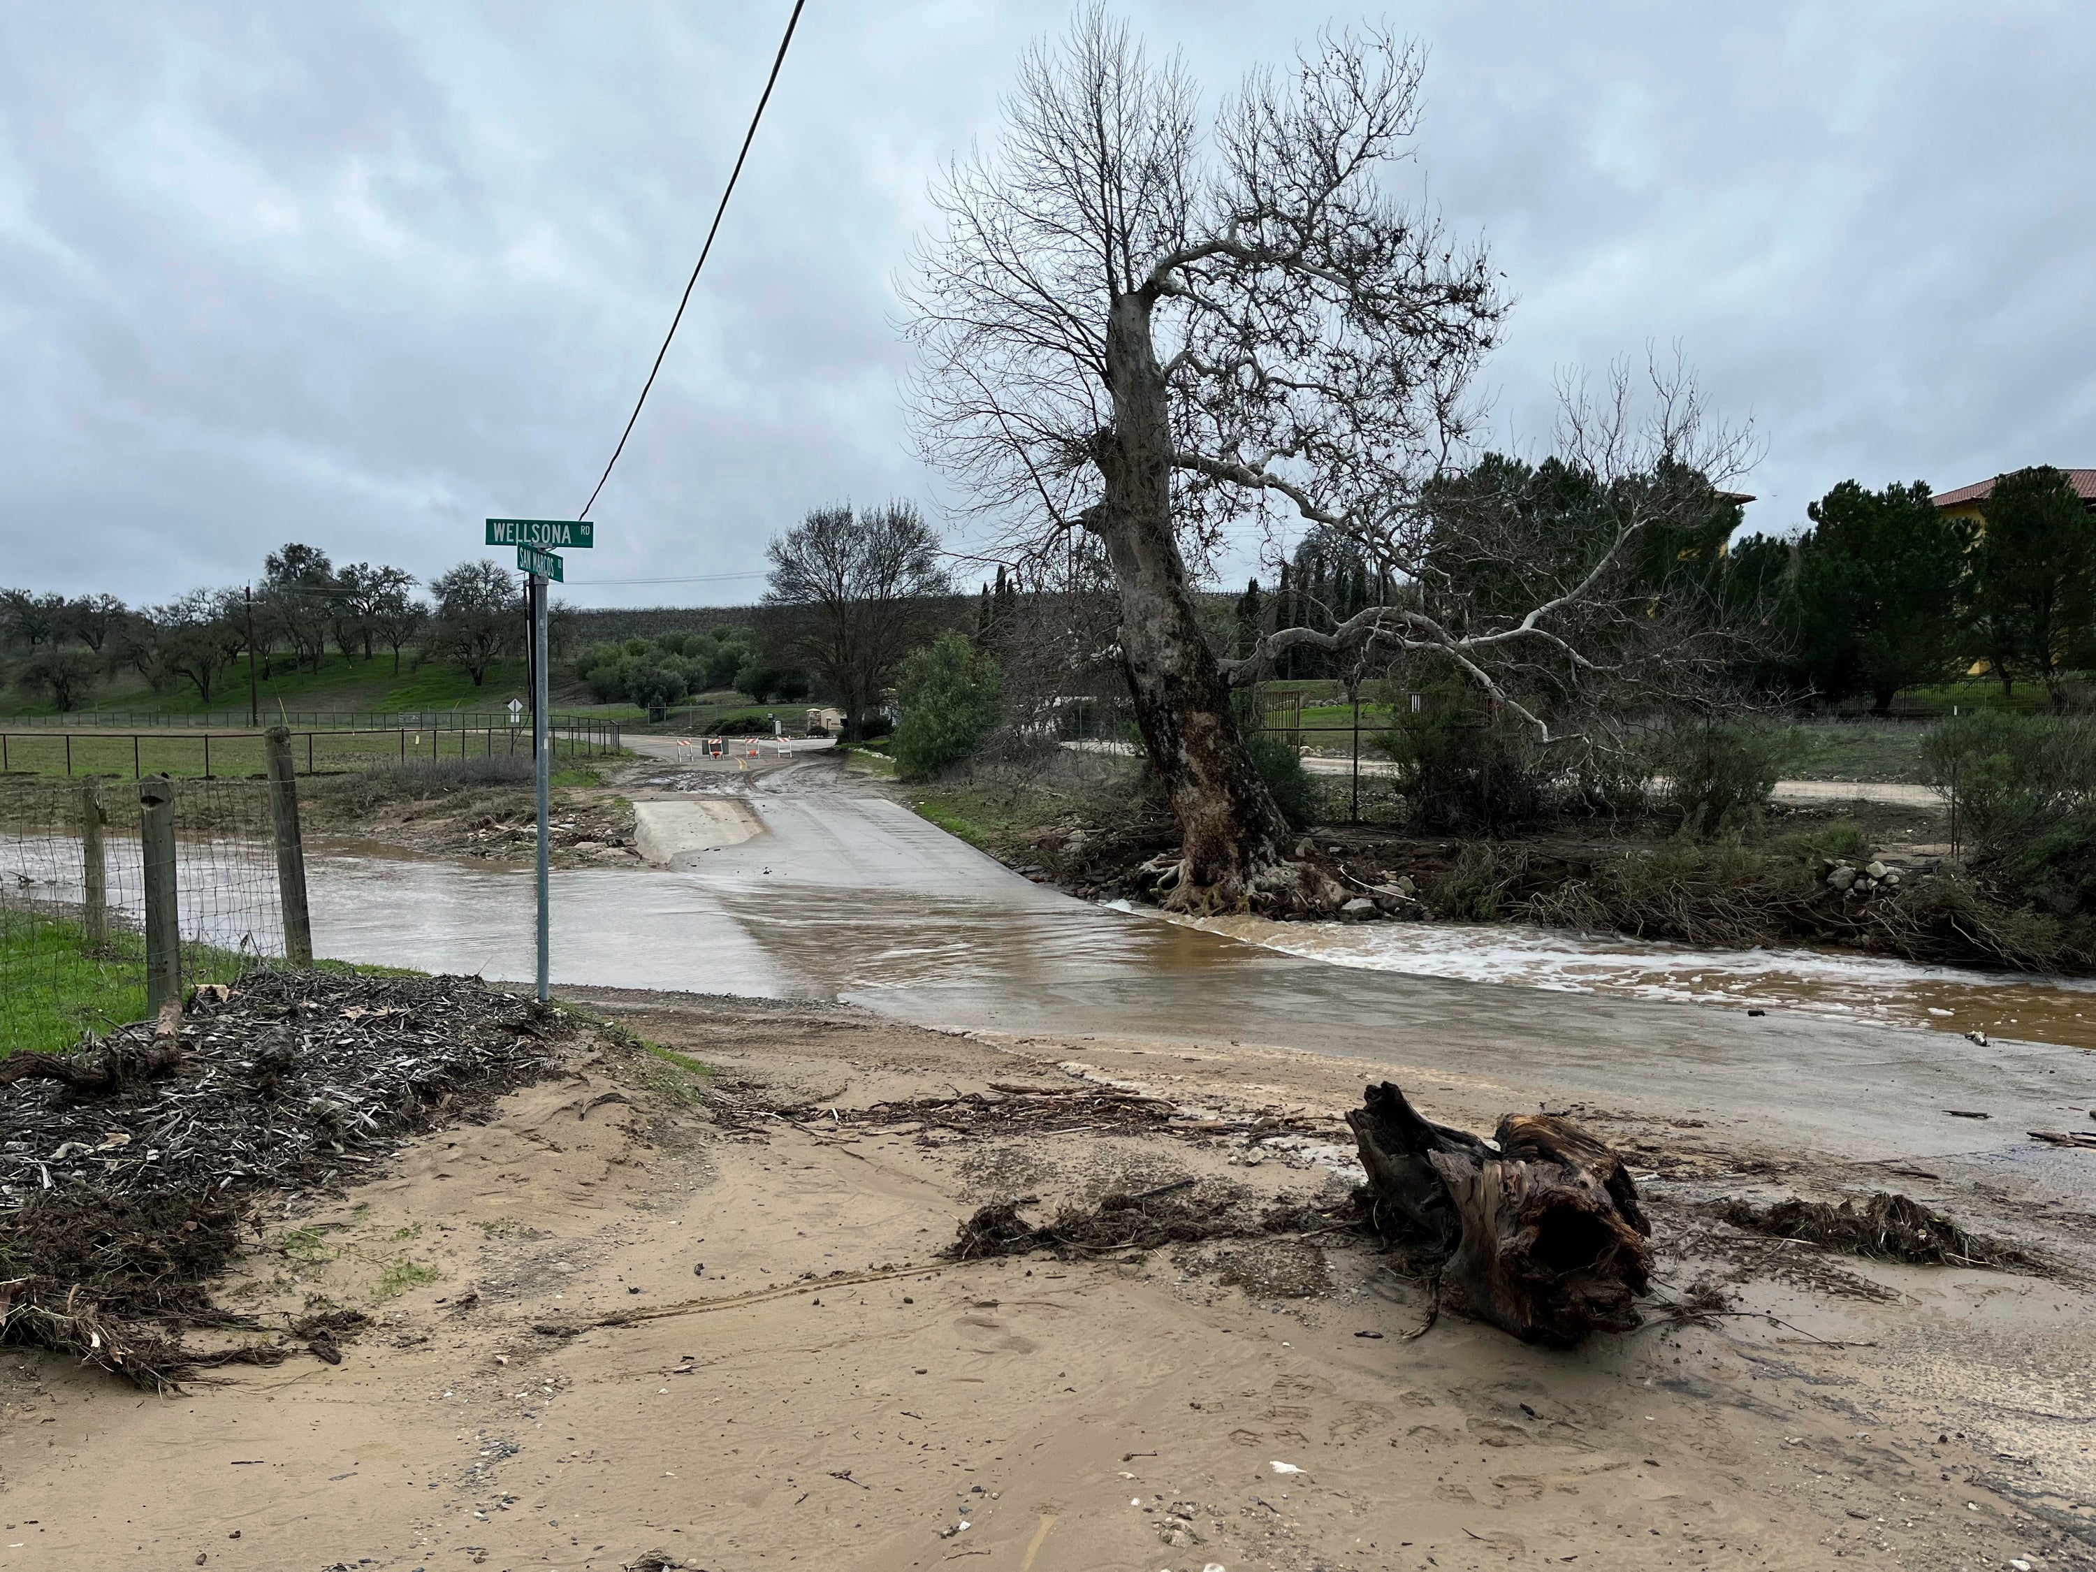
[[[1568,994],[1805,1010],[2096,1048],[2096,979],[2012,977],[1819,949],[1696,949],[1515,924],[1174,918],[1304,960]]]

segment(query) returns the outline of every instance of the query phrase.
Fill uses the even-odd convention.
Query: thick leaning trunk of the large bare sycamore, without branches
[[[1121,606],[1121,671],[1151,767],[1182,836],[1161,895],[1178,908],[1300,905],[1283,868],[1287,822],[1245,750],[1230,687],[1201,633],[1172,530],[1172,425],[1149,302],[1126,293],[1107,331],[1113,428],[1098,436],[1107,547]],[[1314,891],[1310,905],[1327,895]]]

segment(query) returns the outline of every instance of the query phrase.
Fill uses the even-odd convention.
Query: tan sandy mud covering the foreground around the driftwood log
[[[2083,1209],[1574,1109],[1656,1214],[1652,1325],[1547,1352],[1444,1310],[1409,1337],[1425,1285],[1337,1224],[941,1258],[1004,1199],[1195,1178],[1339,1207],[1358,1061],[581,1000],[711,1073],[583,1033],[488,1121],[258,1216],[220,1300],[367,1310],[340,1364],[145,1396],[0,1350],[0,1566],[2096,1566]],[[1429,1117],[1507,1109],[1402,1050],[1392,1075]],[[2048,1264],[1891,1266],[1712,1214],[1888,1184]],[[1698,1283],[1727,1312],[1668,1318]]]

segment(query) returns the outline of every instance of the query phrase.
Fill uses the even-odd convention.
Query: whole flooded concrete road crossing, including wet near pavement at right
[[[2096,1105],[2096,994],[2081,985],[1497,926],[1167,922],[1031,885],[828,761],[667,776],[635,796],[679,792],[736,794],[761,830],[667,868],[555,872],[555,985],[843,998],[1019,1038],[1310,1048],[1396,1079],[1666,1107],[1857,1159],[1966,1153],[2088,1182],[2088,1153],[2023,1138],[2086,1126]],[[310,861],[321,954],[530,975],[528,870],[352,847]],[[1987,1027],[1987,1046],[1956,1035],[1983,1019],[2014,1025]],[[1974,1113],[1989,1119],[1960,1117]]]

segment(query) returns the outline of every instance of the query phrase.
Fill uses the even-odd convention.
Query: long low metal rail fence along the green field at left
[[[555,759],[589,759],[620,746],[610,721],[560,721],[549,727]],[[220,776],[262,773],[262,732],[48,732],[0,729],[0,776]],[[358,725],[291,732],[291,759],[300,773],[369,769],[386,763],[436,759],[530,757],[530,727],[507,715],[486,725]]]

